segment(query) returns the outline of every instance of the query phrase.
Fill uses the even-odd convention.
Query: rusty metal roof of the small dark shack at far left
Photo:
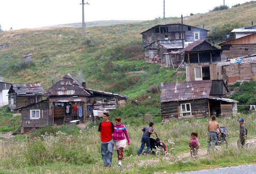
[[[41,83],[33,84],[13,84],[9,89],[8,94],[16,93],[17,95],[43,95],[44,89]]]

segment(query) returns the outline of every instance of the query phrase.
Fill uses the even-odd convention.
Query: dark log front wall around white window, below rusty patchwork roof
[[[181,104],[190,103],[192,117],[207,117],[208,101],[206,99],[190,100],[190,101],[170,101],[161,103],[162,118],[181,117]],[[168,114],[168,115],[167,115]],[[184,116],[185,118],[186,116]],[[182,117],[181,117],[182,118]]]

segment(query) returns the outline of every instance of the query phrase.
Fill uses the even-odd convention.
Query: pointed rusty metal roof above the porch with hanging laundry
[[[77,79],[70,74],[66,74],[62,79],[55,83],[45,95],[48,96],[90,96],[91,94],[86,91],[84,86],[78,82]]]

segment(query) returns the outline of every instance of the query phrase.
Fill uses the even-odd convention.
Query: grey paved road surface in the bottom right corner
[[[183,173],[175,173],[175,174],[256,174],[256,164],[252,165],[239,165],[235,167],[223,167],[223,168],[215,168],[208,170],[199,170],[199,171],[190,171]]]

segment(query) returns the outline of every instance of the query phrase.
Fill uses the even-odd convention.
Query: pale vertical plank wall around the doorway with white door
[[[216,66],[216,64],[211,63],[193,63],[186,64],[186,81],[194,81],[195,80],[195,67],[208,67],[210,68],[210,79],[211,80],[221,80],[223,77],[221,76],[221,67]]]

